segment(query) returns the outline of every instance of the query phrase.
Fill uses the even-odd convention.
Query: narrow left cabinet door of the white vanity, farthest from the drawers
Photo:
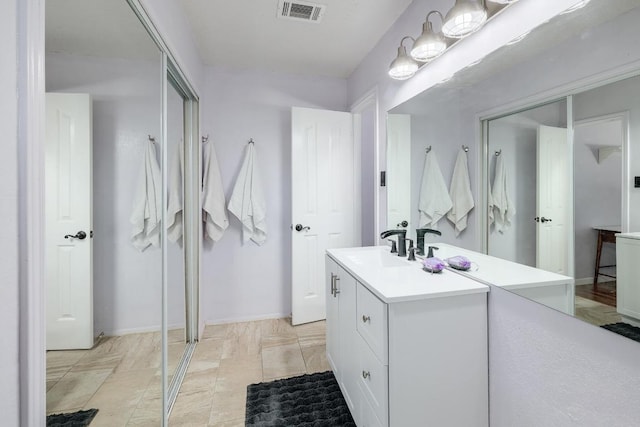
[[[325,258],[325,275],[326,275],[326,300],[327,300],[327,361],[333,370],[338,382],[340,382],[341,363],[340,363],[340,300],[339,294],[334,294],[335,277],[338,274],[338,264],[329,258]]]

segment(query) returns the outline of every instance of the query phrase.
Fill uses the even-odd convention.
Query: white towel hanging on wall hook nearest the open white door
[[[260,185],[254,144],[247,144],[244,162],[228,208],[242,222],[242,241],[246,243],[251,239],[262,245],[267,238],[266,203]]]

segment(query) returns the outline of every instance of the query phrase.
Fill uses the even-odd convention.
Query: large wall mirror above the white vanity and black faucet
[[[466,146],[475,208],[460,235],[441,220],[438,241],[571,276],[568,314],[619,322],[612,236],[640,231],[639,20],[638,0],[592,1],[389,111],[388,227],[418,227],[426,150],[448,185]],[[507,228],[488,215],[498,160]]]

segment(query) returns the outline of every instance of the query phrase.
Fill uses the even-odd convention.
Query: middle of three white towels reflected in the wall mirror
[[[474,207],[471,183],[469,181],[469,168],[467,166],[467,153],[463,149],[458,152],[456,165],[453,167],[449,196],[453,206],[447,214],[447,219],[453,223],[457,237],[462,230],[467,228],[467,215]]]

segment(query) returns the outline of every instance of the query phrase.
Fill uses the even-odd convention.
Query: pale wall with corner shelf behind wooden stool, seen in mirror
[[[598,225],[620,225],[622,154],[598,161],[599,146],[622,145],[622,121],[586,123],[574,129],[575,277],[594,275]],[[615,245],[604,243],[600,265],[615,265]],[[612,271],[602,270],[605,274]],[[600,276],[599,281],[615,280]]]

